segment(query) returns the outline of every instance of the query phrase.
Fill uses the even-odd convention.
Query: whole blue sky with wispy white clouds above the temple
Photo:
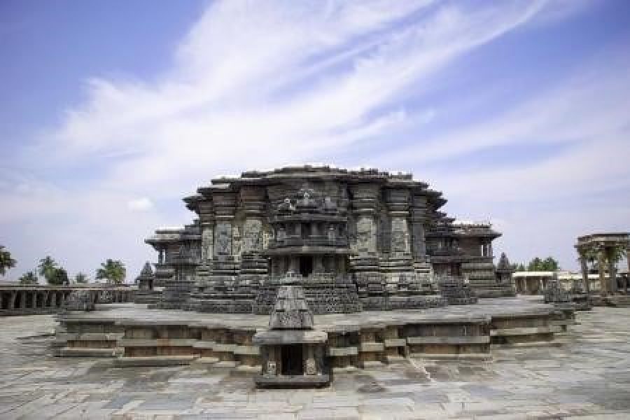
[[[630,3],[3,1],[0,243],[132,279],[181,197],[302,162],[413,172],[514,261],[630,227]]]

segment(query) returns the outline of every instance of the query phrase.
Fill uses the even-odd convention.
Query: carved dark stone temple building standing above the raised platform
[[[159,256],[145,274],[164,287],[153,307],[271,314],[286,279],[314,314],[514,295],[509,269],[493,264],[500,233],[448,216],[442,193],[411,174],[284,167],[214,179],[183,200],[193,223],[146,239]]]

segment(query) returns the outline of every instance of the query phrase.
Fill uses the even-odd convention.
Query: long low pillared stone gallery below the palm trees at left
[[[0,316],[55,314],[63,309],[73,290],[86,290],[94,303],[131,302],[133,299],[133,290],[126,287],[2,285]],[[105,296],[108,302],[104,301]],[[112,302],[109,302],[110,297]]]

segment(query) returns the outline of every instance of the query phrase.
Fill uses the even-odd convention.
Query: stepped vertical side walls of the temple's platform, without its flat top
[[[59,316],[57,356],[117,356],[118,365],[211,364],[259,369],[252,337],[260,328],[199,321],[133,320]],[[573,309],[521,311],[487,316],[449,316],[322,325],[333,368],[397,363],[407,357],[491,358],[492,346],[546,345],[573,324]]]

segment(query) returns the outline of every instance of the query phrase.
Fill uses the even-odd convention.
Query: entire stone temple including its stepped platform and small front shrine
[[[414,358],[491,360],[493,347],[552,344],[575,322],[571,302],[512,297],[507,256],[493,261],[500,234],[447,216],[442,193],[409,174],[244,172],[184,202],[197,217],[146,239],[158,262],[134,303],[60,314],[53,354],[320,387]]]

